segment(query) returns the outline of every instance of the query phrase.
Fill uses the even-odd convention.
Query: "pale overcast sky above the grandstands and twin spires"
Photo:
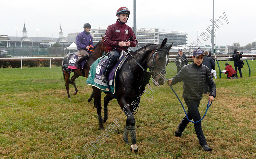
[[[0,35],[22,36],[25,21],[27,36],[59,37],[61,24],[63,36],[75,31],[82,32],[84,23],[92,28],[107,28],[116,22],[116,11],[125,6],[131,16],[126,23],[133,27],[133,0],[91,0],[91,1],[1,1]],[[256,1],[215,0],[216,45],[241,46],[256,41]],[[226,19],[221,19],[219,16]],[[212,25],[212,0],[137,0],[137,29],[159,28],[162,32],[172,30],[186,32],[187,43],[196,42],[197,35],[206,32]],[[222,24],[221,24],[222,23]],[[197,32],[197,30],[199,30]],[[209,34],[209,33],[208,33]],[[206,38],[207,36],[205,36]],[[204,45],[211,45],[211,39],[199,39]]]

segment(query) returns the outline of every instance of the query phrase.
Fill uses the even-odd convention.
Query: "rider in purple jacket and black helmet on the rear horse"
[[[89,23],[84,24],[84,31],[80,32],[76,36],[76,48],[78,52],[82,55],[79,59],[76,60],[74,65],[78,68],[79,63],[84,61],[89,57],[89,53],[87,52],[89,46],[91,45],[92,48],[94,47],[93,45],[93,40],[92,36],[90,35],[90,30],[91,30],[91,25]]]

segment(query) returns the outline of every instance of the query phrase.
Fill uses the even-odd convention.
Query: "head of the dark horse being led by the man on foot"
[[[167,38],[165,38],[161,45],[159,45],[148,61],[148,68],[150,68],[151,76],[156,86],[163,85],[165,83],[166,70],[165,67],[169,63],[169,50],[172,44],[168,47],[165,46]]]

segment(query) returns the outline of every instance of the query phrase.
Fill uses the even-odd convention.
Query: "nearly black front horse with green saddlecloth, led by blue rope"
[[[169,50],[172,45],[166,47],[167,38],[165,38],[161,45],[151,44],[144,46],[137,51],[133,52],[132,56],[126,59],[125,63],[119,71],[119,76],[116,81],[116,99],[123,112],[126,114],[126,126],[123,133],[123,140],[126,144],[130,144],[128,141],[129,133],[131,133],[131,147],[130,151],[137,152],[138,146],[136,130],[135,130],[135,118],[133,116],[134,111],[137,109],[140,103],[140,97],[142,96],[146,84],[149,82],[150,77],[154,81],[155,85],[163,85],[165,83],[165,67],[169,63]],[[137,61],[137,63],[136,63]],[[150,69],[150,73],[147,72],[147,68]],[[146,74],[148,77],[146,78]],[[146,81],[144,81],[146,79]],[[94,107],[97,108],[99,129],[104,130],[103,122],[108,119],[108,103],[113,99],[110,93],[106,93],[104,97],[104,117],[101,117],[101,91],[92,86],[94,92]],[[137,107],[134,105],[137,103]]]

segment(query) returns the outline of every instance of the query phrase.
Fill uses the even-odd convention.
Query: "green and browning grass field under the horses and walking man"
[[[135,115],[138,154],[131,153],[130,145],[123,142],[126,116],[112,100],[104,128],[108,129],[116,118],[124,123],[119,123],[115,132],[108,131],[103,144],[94,143],[90,157],[87,155],[92,151],[87,152],[87,145],[106,133],[98,130],[96,109],[93,103],[87,103],[92,89],[85,85],[86,78],[76,80],[79,91],[70,101],[61,67],[0,69],[0,158],[256,158],[256,61],[248,62],[251,77],[245,64],[242,79],[226,79],[226,75],[214,79],[217,96],[202,120],[212,152],[202,150],[192,123],[183,137],[175,137],[185,113],[165,84],[151,92],[152,99],[144,100]],[[223,70],[226,62],[219,63]],[[229,64],[233,66],[233,61]],[[218,76],[217,63],[216,70]],[[167,78],[172,76],[167,74]],[[182,83],[173,88],[182,97]],[[71,85],[71,94],[73,91]],[[207,100],[208,95],[204,95],[201,116]]]

